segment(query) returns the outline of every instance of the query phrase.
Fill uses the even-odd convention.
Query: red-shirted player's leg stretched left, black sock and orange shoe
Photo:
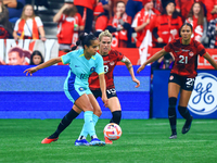
[[[48,138],[44,138],[41,143],[51,143],[52,141],[56,141],[59,135],[80,114],[80,112],[81,110],[75,110],[73,106],[73,109],[62,118],[56,130]]]

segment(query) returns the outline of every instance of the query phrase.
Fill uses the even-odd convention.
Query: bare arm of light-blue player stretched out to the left
[[[33,75],[33,73],[42,70],[44,67],[51,66],[53,64],[56,64],[59,62],[62,62],[61,58],[55,58],[55,59],[51,59],[42,64],[39,64],[38,66],[35,67],[30,67],[24,71],[24,73],[26,73],[26,76],[28,76],[28,74]]]

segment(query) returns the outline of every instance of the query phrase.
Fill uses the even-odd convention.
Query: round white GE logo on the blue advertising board
[[[196,76],[188,108],[195,114],[207,115],[217,110],[217,77],[208,73]]]

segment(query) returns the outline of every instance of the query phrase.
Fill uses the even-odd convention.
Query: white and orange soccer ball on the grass
[[[110,123],[104,127],[103,133],[110,140],[117,140],[122,136],[122,128],[115,123]]]

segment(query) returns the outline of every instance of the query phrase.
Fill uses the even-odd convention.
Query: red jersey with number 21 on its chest
[[[181,38],[174,39],[164,47],[166,52],[175,57],[174,67],[170,73],[193,78],[197,75],[197,54],[203,57],[206,50],[202,43],[191,39],[190,45],[182,45]]]

